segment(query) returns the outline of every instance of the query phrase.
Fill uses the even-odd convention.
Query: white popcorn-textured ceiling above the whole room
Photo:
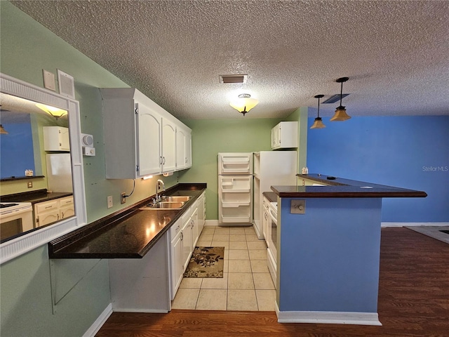
[[[449,1],[11,2],[178,118],[449,114]]]

